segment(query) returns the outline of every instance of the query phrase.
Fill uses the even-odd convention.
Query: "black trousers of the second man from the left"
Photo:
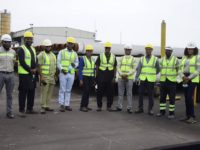
[[[31,75],[19,75],[19,111],[33,110],[36,81]]]

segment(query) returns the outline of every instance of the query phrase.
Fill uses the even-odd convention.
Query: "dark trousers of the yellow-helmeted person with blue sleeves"
[[[89,96],[91,93],[91,87],[92,87],[93,83],[94,83],[94,77],[83,76],[83,93],[82,93],[80,107],[88,107]]]

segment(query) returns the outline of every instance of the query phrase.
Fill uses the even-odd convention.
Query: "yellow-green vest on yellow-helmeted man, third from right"
[[[147,63],[146,57],[143,56],[140,61],[142,63],[142,69],[139,76],[140,80],[145,81],[147,79],[149,82],[155,82],[157,57],[151,56],[149,62]]]

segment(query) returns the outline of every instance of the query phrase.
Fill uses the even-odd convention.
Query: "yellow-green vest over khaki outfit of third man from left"
[[[54,64],[56,67],[56,56],[52,52],[50,52],[49,54],[53,56]],[[43,60],[41,64],[41,73],[48,75],[50,73],[50,64],[52,62],[50,62],[49,56],[46,54],[46,52],[42,52],[42,57],[43,57]]]

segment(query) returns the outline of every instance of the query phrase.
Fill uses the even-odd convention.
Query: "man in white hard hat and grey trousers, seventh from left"
[[[123,100],[124,100],[124,92],[126,89],[127,96],[127,112],[132,113],[132,87],[133,87],[133,79],[135,73],[135,59],[131,55],[132,46],[125,45],[124,46],[125,55],[121,57],[118,65],[118,106],[117,111],[122,111],[123,108]]]

